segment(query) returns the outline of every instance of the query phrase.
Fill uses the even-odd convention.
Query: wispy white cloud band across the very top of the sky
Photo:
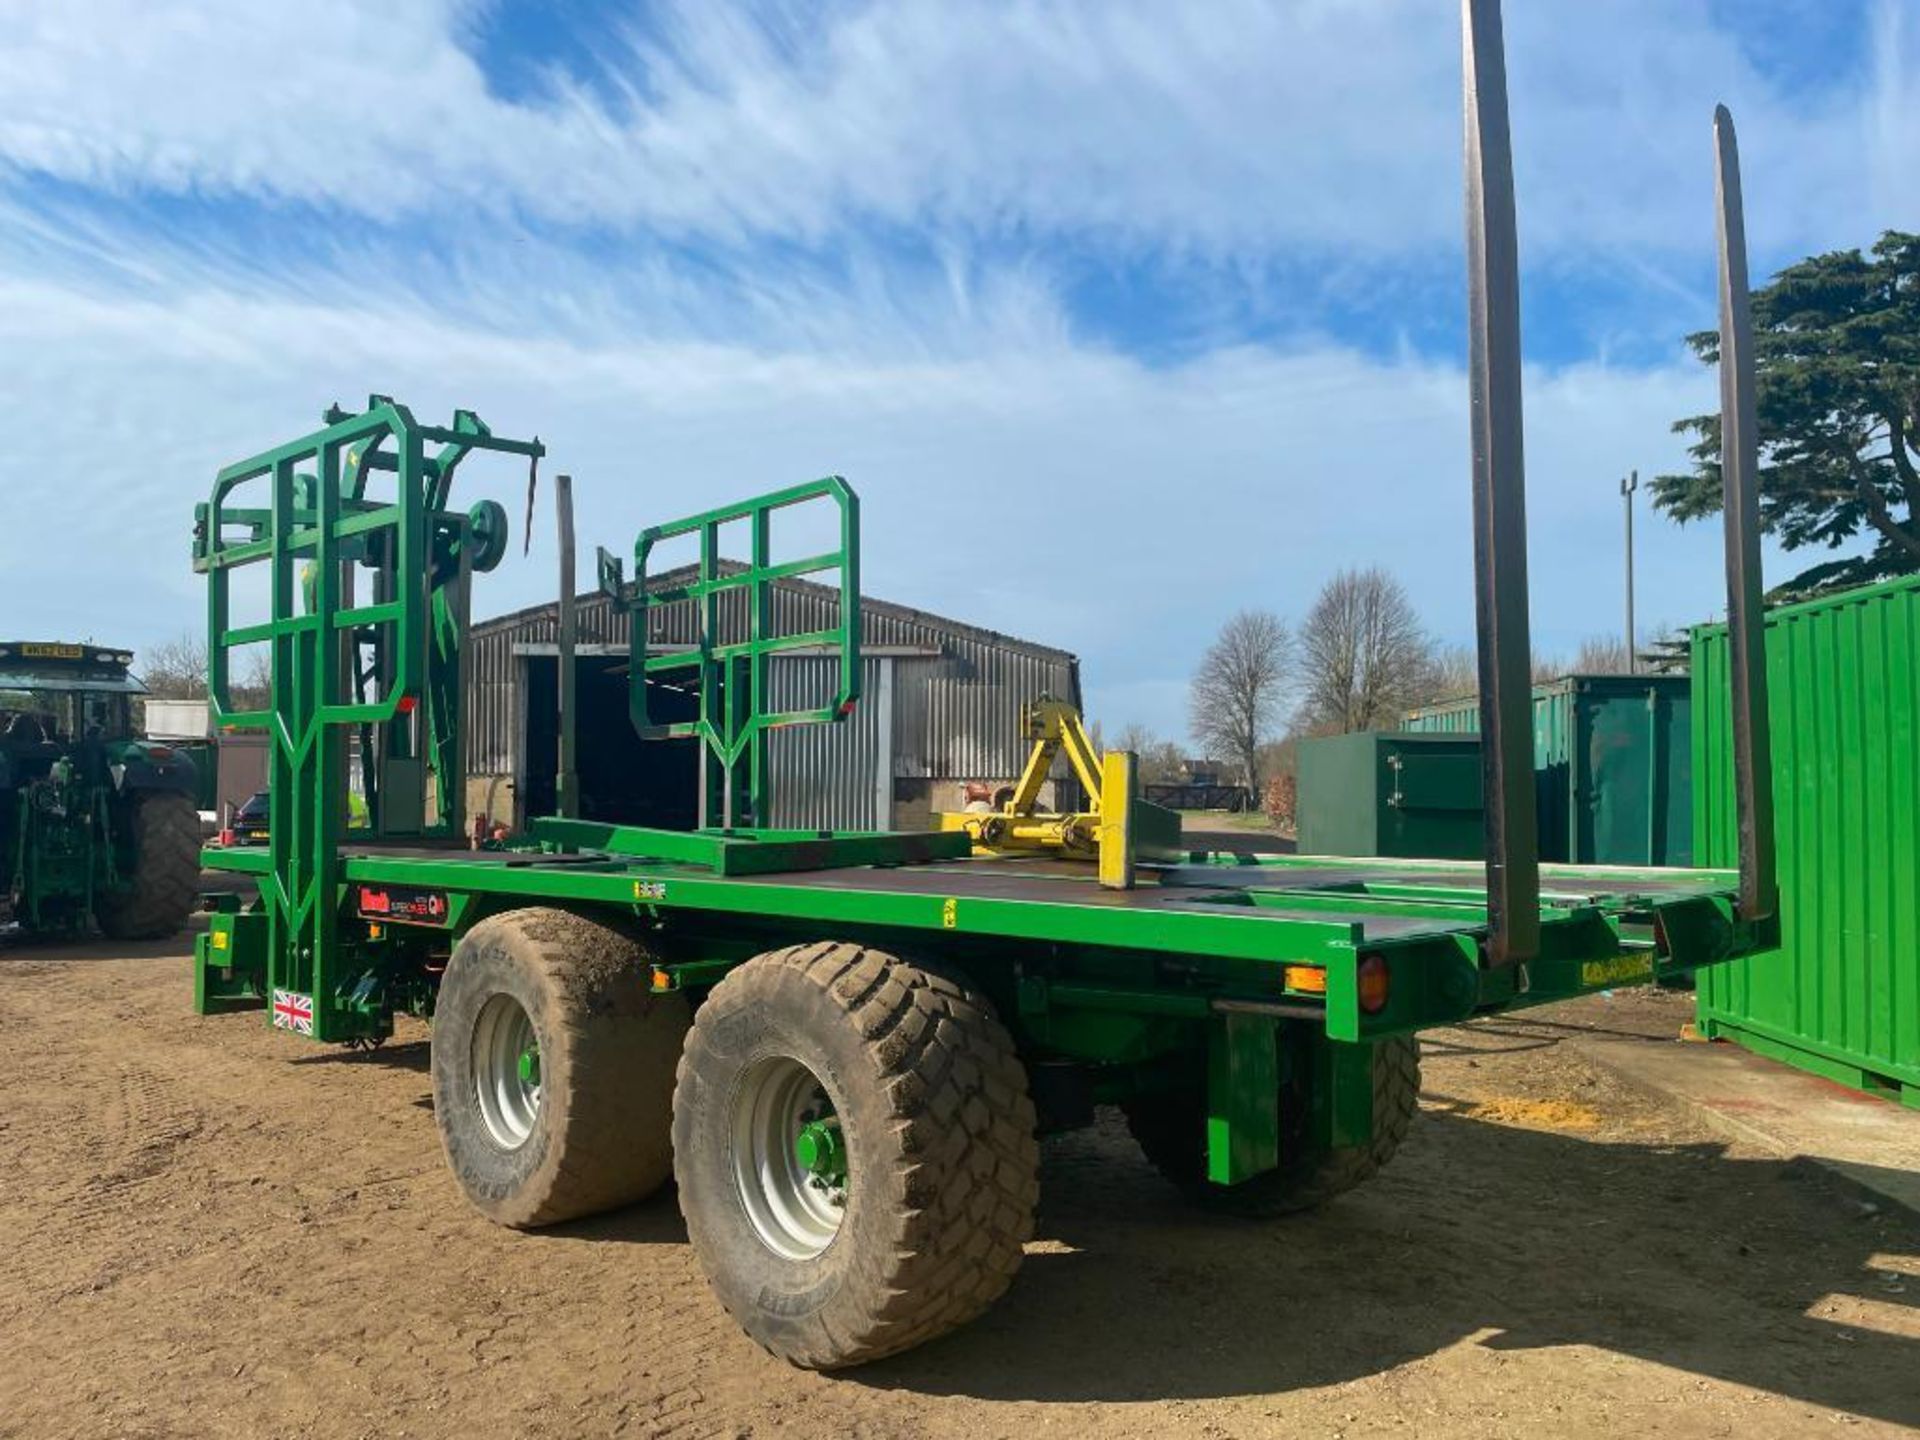
[[[516,102],[451,0],[15,12],[0,156],[88,186],[806,244],[858,221],[1204,255],[1457,232],[1455,19],[1432,0],[676,4],[611,35],[593,84]],[[1784,94],[1707,0],[1513,6],[1530,246],[1697,248],[1716,98],[1755,140],[1763,240],[1910,200],[1920,58],[1893,0],[1878,25],[1872,75]]]

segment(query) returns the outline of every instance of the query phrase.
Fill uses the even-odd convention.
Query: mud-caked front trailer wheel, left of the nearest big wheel
[[[532,1229],[653,1194],[672,1173],[687,1002],[632,935],[509,910],[453,948],[434,1006],[434,1119],[480,1213]]]

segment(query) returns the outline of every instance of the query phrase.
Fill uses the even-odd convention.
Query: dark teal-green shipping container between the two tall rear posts
[[[1540,858],[1693,864],[1692,689],[1686,676],[1563,676],[1534,685]],[[1473,735],[1475,697],[1411,710],[1407,730]]]

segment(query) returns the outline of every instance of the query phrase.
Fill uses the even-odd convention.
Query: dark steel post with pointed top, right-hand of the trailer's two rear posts
[[[1734,718],[1734,806],[1740,826],[1740,910],[1770,916],[1774,885],[1774,766],[1766,730],[1766,611],[1761,593],[1761,426],[1747,300],[1747,221],[1740,140],[1726,106],[1713,111],[1715,202],[1720,238],[1720,503],[1726,513],[1726,639]]]

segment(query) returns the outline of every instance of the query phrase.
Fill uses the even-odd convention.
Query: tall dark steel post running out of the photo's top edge
[[[1540,822],[1534,799],[1521,422],[1521,261],[1500,0],[1461,0],[1461,19],[1488,964],[1509,966],[1532,958],[1540,948]]]

